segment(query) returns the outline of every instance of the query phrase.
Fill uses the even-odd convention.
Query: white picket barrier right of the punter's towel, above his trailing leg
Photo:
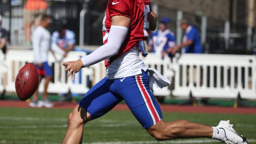
[[[174,59],[173,95],[256,99],[254,55],[183,54]]]

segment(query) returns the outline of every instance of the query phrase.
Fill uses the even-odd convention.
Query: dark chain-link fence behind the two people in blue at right
[[[170,29],[176,34],[178,9],[169,9],[165,6],[159,7],[159,17],[170,18]],[[183,18],[190,21],[191,25],[201,32],[201,16],[203,14],[183,12]],[[230,29],[228,47],[224,38],[225,21],[216,18],[207,18],[206,42],[202,44],[205,53],[209,54],[252,54],[246,49],[247,26],[233,24]],[[184,34],[184,32],[183,32]],[[254,36],[255,37],[255,36]],[[252,38],[253,39],[253,38]],[[254,38],[255,39],[255,38]]]

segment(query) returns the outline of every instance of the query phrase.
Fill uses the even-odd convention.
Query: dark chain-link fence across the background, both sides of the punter
[[[51,32],[56,30],[56,23],[66,23],[70,30],[76,34],[77,44],[79,43],[79,20],[80,11],[85,1],[80,0],[48,0],[47,14],[54,19]],[[88,12],[84,26],[85,44],[102,44],[102,19],[105,15],[107,0],[88,1]],[[10,44],[22,45],[24,37],[24,1],[21,0],[0,0],[0,15],[3,16],[3,28],[10,31]],[[170,18],[170,29],[177,31],[177,11],[165,6],[159,7],[159,18],[165,16]],[[183,12],[183,18],[188,19],[191,25],[201,31],[201,16],[203,14]],[[205,53],[211,54],[251,54],[246,50],[247,27],[241,24],[233,24],[230,29],[228,47],[224,38],[225,21],[216,18],[207,18],[206,42],[202,44]],[[184,34],[184,32],[183,32]],[[253,33],[254,34],[254,33]],[[255,39],[255,38],[254,38]]]

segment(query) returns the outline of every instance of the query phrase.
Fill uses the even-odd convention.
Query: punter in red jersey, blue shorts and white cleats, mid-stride
[[[211,127],[187,120],[165,122],[162,119],[160,106],[151,92],[156,90],[152,83],[158,81],[154,86],[162,88],[170,85],[170,81],[156,70],[147,68],[139,58],[140,52],[147,55],[148,30],[155,30],[156,21],[150,0],[109,0],[103,19],[104,45],[77,61],[62,63],[73,80],[81,68],[102,60],[107,68],[107,77],[93,86],[69,114],[63,144],[82,143],[83,126],[109,112],[122,100],[143,128],[157,140],[201,137],[229,144],[235,144],[234,141],[247,144],[229,121]]]

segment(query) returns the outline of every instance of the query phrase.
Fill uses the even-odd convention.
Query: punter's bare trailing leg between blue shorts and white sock
[[[160,120],[154,126],[147,129],[147,132],[157,140],[176,139],[176,138],[212,138],[213,129],[198,123],[187,120],[165,122]]]

